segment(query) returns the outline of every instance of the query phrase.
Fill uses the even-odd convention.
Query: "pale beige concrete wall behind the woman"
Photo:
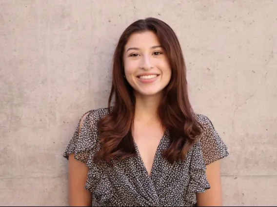
[[[229,147],[224,206],[277,204],[277,0],[0,0],[0,205],[64,206],[62,153],[105,107],[133,21],[177,33],[191,102]]]

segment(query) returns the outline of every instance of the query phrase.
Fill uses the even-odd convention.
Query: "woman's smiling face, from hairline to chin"
[[[145,96],[160,93],[171,78],[169,60],[151,31],[134,33],[125,45],[124,72],[133,89]]]

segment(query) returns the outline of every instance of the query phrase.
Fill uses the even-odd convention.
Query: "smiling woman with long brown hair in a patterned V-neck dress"
[[[138,20],[113,61],[108,108],[82,116],[64,153],[70,206],[221,206],[227,147],[192,110],[174,31]]]

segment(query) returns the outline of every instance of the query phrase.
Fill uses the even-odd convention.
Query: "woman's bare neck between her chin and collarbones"
[[[135,120],[158,121],[158,106],[161,94],[154,96],[143,96],[136,94]]]

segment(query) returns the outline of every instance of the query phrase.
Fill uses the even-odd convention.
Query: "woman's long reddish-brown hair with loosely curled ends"
[[[129,36],[144,31],[153,31],[158,36],[172,69],[171,80],[164,88],[163,100],[158,107],[161,124],[171,139],[163,156],[170,163],[184,160],[201,133],[201,125],[195,119],[188,99],[185,62],[177,36],[170,26],[157,18],[139,19],[123,32],[114,52],[109,114],[99,121],[101,149],[95,160],[103,159],[111,164],[111,159],[122,160],[136,155],[132,137],[136,100],[133,88],[124,79],[123,52]],[[115,104],[111,109],[113,97]]]

